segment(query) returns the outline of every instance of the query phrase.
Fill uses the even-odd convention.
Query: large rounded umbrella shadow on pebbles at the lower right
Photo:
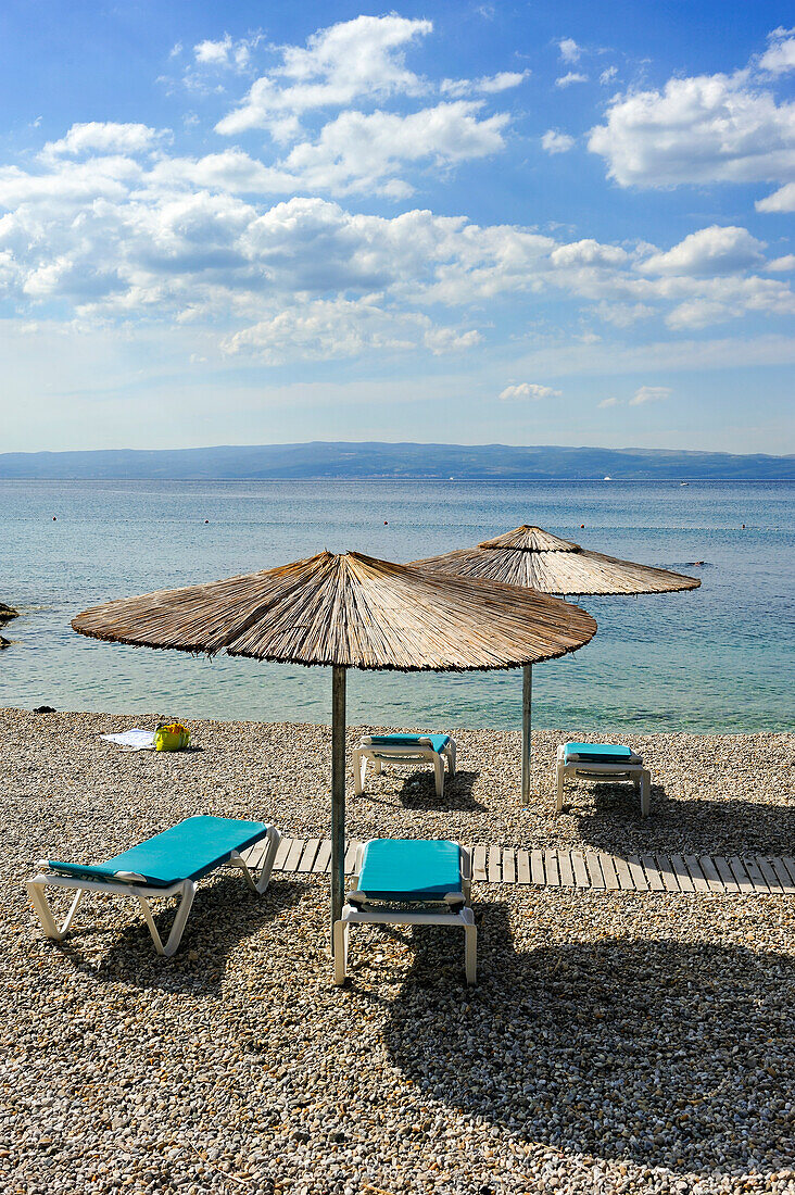
[[[709,942],[610,938],[516,952],[484,914],[478,986],[451,934],[414,934],[386,1048],[433,1099],[520,1140],[675,1172],[787,1166],[795,964]]]

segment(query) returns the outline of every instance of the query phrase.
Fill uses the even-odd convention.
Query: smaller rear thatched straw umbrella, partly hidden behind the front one
[[[681,572],[654,569],[648,564],[619,560],[600,552],[583,551],[579,544],[550,535],[543,527],[515,527],[487,539],[476,547],[465,547],[444,556],[412,560],[411,568],[433,572],[500,581],[525,586],[542,593],[581,594],[662,594],[677,589],[697,589],[701,581]],[[521,795],[530,797],[530,731],[532,704],[532,664],[525,666],[522,699]]]

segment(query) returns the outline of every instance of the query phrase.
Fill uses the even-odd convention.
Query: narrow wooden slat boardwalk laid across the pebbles
[[[359,842],[345,844],[345,874],[351,875]],[[536,884],[631,893],[739,893],[795,895],[795,858],[750,854],[607,854],[604,851],[526,851],[476,842],[472,878],[489,884]],[[264,847],[244,858],[258,865]],[[320,838],[283,838],[274,869],[322,875],[331,868],[331,842]]]

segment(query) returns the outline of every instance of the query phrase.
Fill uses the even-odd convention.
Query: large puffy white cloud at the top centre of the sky
[[[253,82],[216,130],[222,135],[269,130],[283,147],[273,167],[276,194],[288,189],[289,179],[294,191],[377,191],[405,198],[415,189],[402,177],[408,166],[444,170],[504,148],[508,116],[483,115],[485,99],[465,97],[499,94],[530,73],[446,79],[439,84],[442,103],[409,112],[384,110],[392,98],[405,106],[406,98],[435,90],[405,65],[406,49],[432,30],[428,20],[395,14],[357,17],[319,30],[306,47],[281,47],[277,65]],[[202,43],[202,56],[226,61],[236,45],[228,36]],[[373,105],[380,106],[367,110]],[[343,110],[329,116],[334,109]],[[304,128],[305,120],[314,123],[314,133]]]

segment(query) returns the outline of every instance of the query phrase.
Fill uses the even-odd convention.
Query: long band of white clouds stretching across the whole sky
[[[161,154],[145,164],[117,155],[61,160],[37,173],[6,167],[5,293],[35,302],[71,296],[77,308],[91,302],[98,313],[104,305],[108,314],[212,319],[226,312],[245,326],[262,321],[263,310],[270,326],[275,302],[328,295],[377,294],[379,310],[416,313],[557,294],[593,304],[592,314],[614,326],[656,314],[675,330],[793,311],[785,281],[747,272],[760,264],[763,244],[746,229],[701,229],[667,251],[629,253],[593,238],[561,244],[531,229],[422,210],[385,219],[319,197],[262,202],[289,194],[292,183],[291,174],[232,149],[200,159]],[[423,327],[422,343],[432,351],[465,347],[475,332],[451,339]],[[459,344],[459,336],[467,339]],[[245,343],[253,341],[243,337],[239,347]]]

